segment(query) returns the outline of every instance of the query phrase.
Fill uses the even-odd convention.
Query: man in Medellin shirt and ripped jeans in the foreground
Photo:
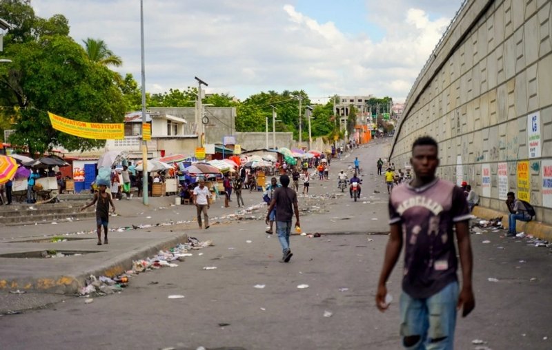
[[[468,202],[460,187],[435,177],[437,150],[433,138],[417,138],[411,157],[416,176],[389,198],[391,234],[375,302],[380,311],[389,306],[386,282],[404,237],[400,334],[406,349],[453,349],[456,311],[462,309],[465,317],[475,307]],[[453,228],[462,265],[460,294]]]

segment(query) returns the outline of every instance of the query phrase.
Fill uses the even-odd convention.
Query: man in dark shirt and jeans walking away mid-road
[[[295,227],[301,227],[299,223],[299,205],[297,205],[297,194],[293,189],[288,188],[289,176],[280,176],[280,183],[282,187],[275,189],[273,198],[268,206],[268,212],[266,213],[266,223],[270,219],[270,212],[276,209],[276,232],[278,234],[278,240],[282,245],[282,263],[288,263],[291,256],[291,249],[289,248],[289,235],[291,231],[291,219],[295,212]]]

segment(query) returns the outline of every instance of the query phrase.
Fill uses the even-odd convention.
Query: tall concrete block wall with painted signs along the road
[[[440,177],[502,211],[507,186],[552,223],[551,19],[552,0],[467,1],[413,85],[391,161],[408,163],[415,138],[433,136]]]

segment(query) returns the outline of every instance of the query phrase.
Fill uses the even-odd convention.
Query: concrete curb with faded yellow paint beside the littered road
[[[90,275],[114,277],[123,274],[132,267],[132,261],[147,258],[157,254],[159,250],[166,250],[177,246],[179,243],[187,243],[188,235],[181,234],[176,238],[163,240],[159,243],[144,247],[140,250],[128,251],[124,254],[102,261],[76,276],[42,276],[40,278],[28,276],[24,278],[0,280],[0,290],[22,289],[35,293],[75,294],[84,287],[85,280]]]

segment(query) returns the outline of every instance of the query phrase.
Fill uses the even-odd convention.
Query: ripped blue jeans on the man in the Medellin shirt
[[[419,336],[411,350],[452,350],[456,326],[458,282],[451,282],[429,298],[415,299],[402,292],[400,298],[401,336]],[[437,340],[437,341],[432,341]]]

